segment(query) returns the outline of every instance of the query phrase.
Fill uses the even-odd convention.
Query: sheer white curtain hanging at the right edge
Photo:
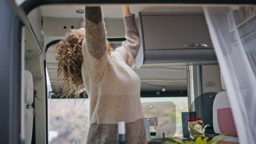
[[[256,7],[203,7],[241,144],[256,142]]]

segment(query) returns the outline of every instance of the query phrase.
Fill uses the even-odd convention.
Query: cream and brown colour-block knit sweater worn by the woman
[[[118,143],[119,121],[126,122],[127,143],[147,143],[141,81],[131,69],[140,45],[135,15],[124,17],[127,40],[109,56],[101,9],[86,7],[85,11],[82,76],[90,98],[87,143]]]

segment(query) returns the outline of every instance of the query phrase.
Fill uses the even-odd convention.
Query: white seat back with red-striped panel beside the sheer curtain
[[[217,134],[237,136],[228,93],[219,92],[213,102],[213,129]]]

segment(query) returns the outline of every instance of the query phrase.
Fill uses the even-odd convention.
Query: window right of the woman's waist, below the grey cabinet
[[[141,98],[144,118],[157,117],[156,135],[152,138],[182,136],[181,112],[188,111],[188,97]]]

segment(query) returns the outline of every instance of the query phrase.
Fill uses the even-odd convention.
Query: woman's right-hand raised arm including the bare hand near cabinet
[[[139,32],[135,21],[135,15],[131,14],[129,6],[123,5],[124,23],[125,23],[125,38],[123,46],[131,53],[133,58],[136,58],[139,46],[141,45],[141,39],[139,38]]]

